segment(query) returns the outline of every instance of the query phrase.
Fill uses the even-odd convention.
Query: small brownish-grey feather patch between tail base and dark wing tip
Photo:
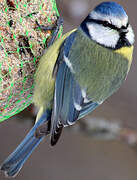
[[[41,138],[42,136],[46,136],[50,133],[50,121],[48,123],[44,123],[39,126],[35,131],[35,137]]]

